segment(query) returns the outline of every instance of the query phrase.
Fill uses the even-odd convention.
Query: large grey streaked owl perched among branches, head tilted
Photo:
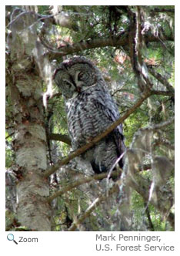
[[[62,62],[54,77],[65,97],[73,150],[88,143],[119,118],[118,107],[108,92],[102,73],[84,56]],[[82,157],[92,164],[95,173],[102,173],[111,169],[124,150],[121,124]],[[119,165],[123,166],[123,160]]]

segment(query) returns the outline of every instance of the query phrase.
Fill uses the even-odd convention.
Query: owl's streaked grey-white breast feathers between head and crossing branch
[[[102,133],[120,117],[112,96],[102,86],[89,88],[66,103],[68,130],[72,147],[82,147],[89,140]],[[122,124],[108,135],[117,147],[118,156],[124,152]]]

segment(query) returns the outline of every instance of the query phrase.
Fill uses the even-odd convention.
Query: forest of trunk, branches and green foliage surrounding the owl
[[[174,9],[6,7],[6,231],[174,230]],[[71,150],[53,72],[74,55],[101,69],[122,116],[116,182],[75,161],[91,144]]]

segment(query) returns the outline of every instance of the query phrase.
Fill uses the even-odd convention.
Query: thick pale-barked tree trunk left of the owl
[[[48,179],[42,176],[47,168],[42,80],[32,58],[37,41],[33,29],[36,16],[14,10],[11,17],[6,83],[15,122],[17,217],[28,230],[51,231]]]

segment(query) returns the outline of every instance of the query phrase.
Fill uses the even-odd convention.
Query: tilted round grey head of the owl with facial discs
[[[84,56],[66,59],[55,70],[55,83],[66,99],[82,93],[102,79],[98,68]]]

